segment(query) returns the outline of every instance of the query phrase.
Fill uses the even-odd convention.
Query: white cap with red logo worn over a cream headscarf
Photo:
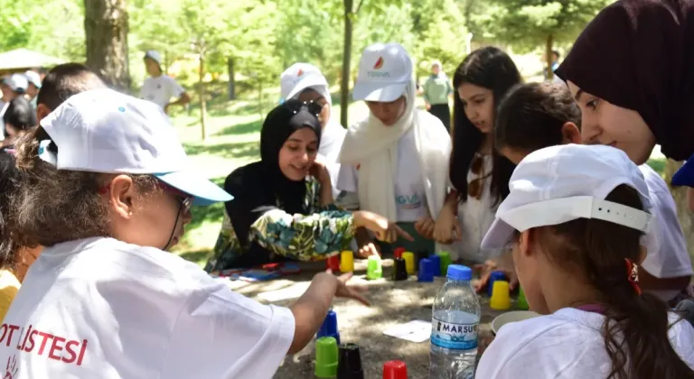
[[[374,43],[361,53],[354,100],[395,101],[412,80],[412,60],[399,43]]]

